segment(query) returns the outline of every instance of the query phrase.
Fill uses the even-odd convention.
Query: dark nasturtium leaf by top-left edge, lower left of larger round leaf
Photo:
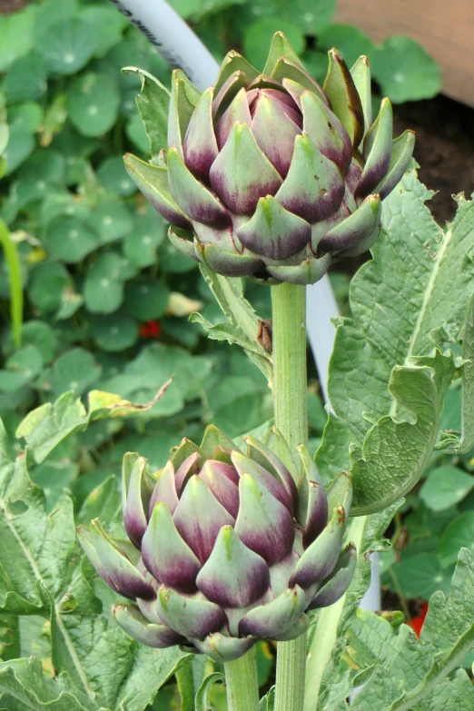
[[[10,104],[35,101],[47,88],[47,71],[41,54],[31,52],[15,60],[5,76],[5,94]]]

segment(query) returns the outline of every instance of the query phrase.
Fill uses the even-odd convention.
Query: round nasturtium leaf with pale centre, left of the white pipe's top
[[[94,30],[77,17],[59,20],[44,31],[40,48],[51,72],[75,74],[94,54]]]

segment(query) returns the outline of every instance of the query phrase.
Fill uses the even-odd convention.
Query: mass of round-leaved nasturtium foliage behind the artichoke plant
[[[394,103],[439,91],[438,67],[418,44],[400,37],[370,43],[359,30],[332,23],[332,0],[172,5],[218,60],[237,48],[262,65],[270,37],[281,29],[319,80],[325,53],[335,44],[349,64],[367,54],[379,94]],[[211,322],[222,316],[193,262],[174,251],[166,224],[123,170],[123,153],[147,155],[149,143],[134,102],[139,80],[120,69],[140,66],[169,84],[167,64],[106,0],[31,3],[0,18],[0,38],[0,215],[19,254],[25,291],[17,348],[2,257],[0,416],[6,430],[13,434],[28,410],[65,390],[76,397],[109,390],[146,402],[177,373],[152,410],[133,420],[96,420],[87,430],[78,428],[31,466],[32,479],[44,489],[46,513],[56,510],[68,489],[81,518],[84,507],[91,513],[88,497],[98,485],[115,496],[109,477],[125,451],[139,449],[157,468],[184,434],[199,438],[212,420],[237,437],[269,420],[272,402],[262,374],[239,349],[207,341],[201,327],[188,322],[192,311]],[[334,285],[350,315],[347,277],[335,273]],[[270,317],[268,290],[247,284],[246,295],[262,318]],[[326,415],[314,378],[308,399],[315,450]],[[460,430],[459,400],[453,387],[442,430]],[[9,447],[15,453],[20,445]],[[381,558],[383,580],[399,596],[394,606],[400,602],[408,617],[417,607],[405,598],[448,591],[459,546],[472,546],[473,456],[435,453],[425,479],[396,514],[394,548]],[[48,604],[41,601],[41,614],[51,610]],[[20,621],[20,651],[35,653],[51,669],[54,627],[44,627],[46,617]],[[11,629],[5,624],[5,635]],[[16,644],[8,641],[4,659],[18,656]],[[270,647],[262,647],[260,656],[264,686],[272,669]]]

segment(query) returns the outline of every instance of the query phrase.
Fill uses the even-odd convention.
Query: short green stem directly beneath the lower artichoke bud
[[[228,711],[258,711],[257,653],[252,647],[243,657],[225,662]]]

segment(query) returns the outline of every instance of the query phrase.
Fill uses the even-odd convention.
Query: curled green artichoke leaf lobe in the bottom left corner
[[[70,676],[46,676],[34,657],[0,664],[0,689],[32,711],[100,711],[90,696],[74,686]],[[3,698],[0,703],[5,703]]]

